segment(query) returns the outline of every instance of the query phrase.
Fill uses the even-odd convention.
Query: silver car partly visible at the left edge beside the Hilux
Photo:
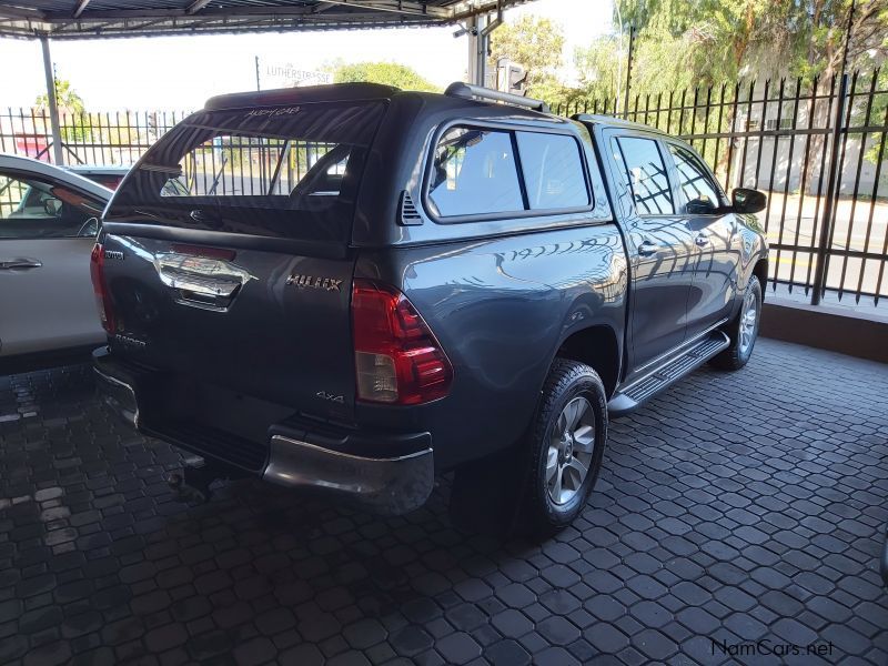
[[[0,371],[104,341],[90,252],[111,190],[0,154]]]

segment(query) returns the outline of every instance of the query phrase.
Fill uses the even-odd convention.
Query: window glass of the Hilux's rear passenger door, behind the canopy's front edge
[[[673,193],[657,142],[638,137],[620,137],[617,141],[619,150],[614,151],[614,158],[626,170],[638,214],[674,214]]]

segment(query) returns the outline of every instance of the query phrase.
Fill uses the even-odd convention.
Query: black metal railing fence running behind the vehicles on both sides
[[[738,186],[766,191],[769,203],[759,219],[770,241],[774,291],[814,303],[861,306],[877,306],[888,296],[886,73],[636,95],[618,112],[614,99],[583,100],[554,111],[617,114],[657,127],[694,144],[726,191]],[[64,162],[130,164],[184,115],[62,113]],[[51,137],[44,111],[0,111],[0,151],[51,161]],[[194,155],[191,168],[184,165],[185,171],[201,178],[214,173],[220,181],[216,189],[228,189],[238,188],[233,180],[226,182],[234,179],[235,165],[241,172],[255,167],[249,186],[256,186],[259,179],[264,191],[272,169],[263,157],[269,151],[254,148],[250,150],[259,157],[246,161],[233,153],[225,160],[224,150],[204,151]],[[231,152],[232,147],[225,149]],[[299,149],[290,155],[289,170],[304,171],[311,147],[302,152],[302,158]],[[196,182],[195,176],[189,182]]]

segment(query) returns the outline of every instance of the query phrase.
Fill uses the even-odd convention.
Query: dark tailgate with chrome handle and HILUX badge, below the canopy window
[[[117,357],[167,374],[171,392],[219,386],[321,417],[351,416],[352,259],[113,232],[103,249]]]

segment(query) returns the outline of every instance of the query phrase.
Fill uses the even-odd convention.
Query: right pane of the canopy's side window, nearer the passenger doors
[[[518,132],[518,152],[532,210],[588,205],[589,193],[577,142],[564,134]]]

